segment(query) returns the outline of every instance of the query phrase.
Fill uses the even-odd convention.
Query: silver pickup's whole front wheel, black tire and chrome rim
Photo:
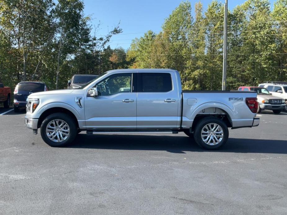
[[[41,137],[49,146],[62,147],[72,143],[78,134],[76,123],[65,113],[47,116],[41,125]]]

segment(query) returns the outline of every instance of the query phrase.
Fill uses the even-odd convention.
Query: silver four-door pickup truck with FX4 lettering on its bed
[[[60,147],[87,134],[184,132],[205,149],[228,139],[228,127],[259,125],[253,91],[185,91],[172,69],[119,69],[75,90],[33,93],[25,125]]]

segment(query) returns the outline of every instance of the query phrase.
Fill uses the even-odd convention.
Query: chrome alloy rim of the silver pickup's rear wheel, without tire
[[[222,127],[216,123],[209,123],[201,129],[201,138],[207,145],[217,145],[223,138]]]

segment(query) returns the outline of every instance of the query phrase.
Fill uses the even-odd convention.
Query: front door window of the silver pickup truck
[[[96,84],[99,96],[131,92],[132,73],[110,75]]]

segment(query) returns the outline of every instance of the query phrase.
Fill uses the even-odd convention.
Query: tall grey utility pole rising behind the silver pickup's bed
[[[227,67],[227,0],[224,4],[224,30],[223,30],[223,72],[222,72],[222,90],[226,90],[226,67]]]

